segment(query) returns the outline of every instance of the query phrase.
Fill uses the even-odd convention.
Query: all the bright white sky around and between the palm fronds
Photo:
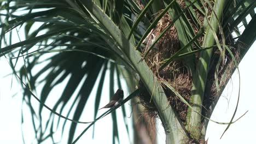
[[[208,143],[252,143],[255,142],[256,137],[256,123],[254,122],[256,119],[256,95],[254,92],[255,88],[255,71],[256,68],[253,66],[255,63],[255,55],[256,55],[256,43],[251,47],[251,49],[247,52],[246,56],[242,59],[242,62],[239,65],[240,68],[240,76],[241,76],[241,91],[240,91],[240,101],[238,105],[238,110],[236,112],[236,116],[234,119],[237,119],[247,110],[247,114],[243,116],[238,122],[232,124],[228,131],[224,134],[222,139],[220,140],[220,136],[222,135],[223,131],[226,128],[226,125],[220,125],[213,122],[210,122],[207,128],[206,139],[208,138]],[[11,75],[7,77],[8,74],[11,73],[11,69],[8,65],[7,60],[4,57],[0,58],[0,143],[22,143],[22,135],[21,135],[21,101],[22,101],[22,91],[19,86],[19,83],[16,82],[16,79],[13,79],[13,83],[11,84]],[[54,92],[51,94],[56,95],[60,94],[63,91],[62,86],[58,86]],[[103,90],[104,93],[108,94],[108,87]],[[125,96],[129,93],[126,89],[124,89]],[[19,93],[13,97],[15,93]],[[95,88],[94,92],[95,93]],[[38,92],[39,94],[39,92]],[[236,101],[238,96],[238,75],[234,73],[232,79],[229,81],[228,87],[225,88],[222,97],[218,101],[216,109],[214,109],[213,115],[211,119],[218,122],[229,122],[232,114],[234,113]],[[105,97],[106,98],[106,97]],[[33,98],[32,98],[33,99]],[[49,102],[50,100],[46,101],[46,105],[53,105],[53,103]],[[93,104],[94,99],[89,99],[88,103]],[[103,102],[102,102],[103,101]],[[100,106],[106,104],[104,101],[108,101],[108,99],[103,99]],[[34,101],[34,104],[38,104],[37,101]],[[26,105],[26,104],[24,104]],[[39,105],[39,104],[38,104]],[[129,107],[129,104],[126,104],[126,107]],[[36,143],[34,140],[34,132],[31,125],[31,118],[30,112],[28,111],[27,106],[23,106],[23,109],[27,110],[24,114],[25,116],[25,123],[22,128],[25,130],[25,141],[27,143]],[[85,108],[85,111],[90,111],[89,107]],[[91,111],[93,112],[93,111]],[[102,110],[100,113],[103,113]],[[121,110],[118,109],[117,112],[120,115]],[[45,116],[49,115],[49,111],[45,110]],[[87,114],[89,115],[89,113]],[[92,113],[90,114],[92,116]],[[127,111],[127,115],[130,115],[130,111]],[[86,117],[88,118],[88,117]],[[90,121],[91,119],[88,118],[84,121]],[[111,117],[107,116],[103,119],[100,119],[96,123],[96,135],[95,140],[91,139],[92,128],[85,135],[79,140],[78,143],[112,143],[112,130],[109,130],[109,133],[106,131],[101,131],[101,129],[109,129],[112,127]],[[130,122],[131,118],[127,118],[127,121]],[[123,121],[123,118],[120,119],[120,122]],[[70,123],[67,125],[65,130],[68,130]],[[83,124],[79,124],[77,133],[75,135],[79,135],[81,131],[84,130],[86,126]],[[121,131],[119,133],[126,135],[126,130],[123,126],[120,126]],[[164,138],[164,131],[161,128],[161,125],[158,125],[159,131],[158,136],[162,137],[159,140],[162,142],[165,141]],[[56,134],[58,136],[60,134]],[[127,140],[127,136],[121,136],[121,142],[129,143]],[[125,138],[126,137],[126,138]],[[67,140],[67,136],[64,136],[63,141]],[[48,141],[49,142],[49,141]],[[160,143],[162,143],[160,142]],[[47,143],[47,142],[46,142]]]

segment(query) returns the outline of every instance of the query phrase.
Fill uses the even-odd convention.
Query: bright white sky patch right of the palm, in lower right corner
[[[209,138],[208,143],[252,143],[256,140],[256,106],[254,103],[256,101],[254,92],[256,68],[253,66],[253,63],[256,62],[255,48],[256,43],[254,42],[253,46],[249,49],[239,65],[241,76],[240,100],[234,119],[242,116],[247,110],[248,112],[236,123],[231,124],[221,140],[220,136],[225,130],[226,125],[210,122],[206,134],[206,139],[207,137]],[[237,97],[238,74],[236,71],[234,75],[232,75],[228,87],[224,89],[222,97],[220,97],[211,119],[218,122],[229,122],[235,111]]]

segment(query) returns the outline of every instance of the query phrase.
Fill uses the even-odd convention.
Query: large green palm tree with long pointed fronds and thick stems
[[[0,26],[0,56],[14,58],[10,65],[16,76],[19,73],[33,121],[33,91],[43,82],[38,99],[39,126],[34,128],[39,143],[48,137],[54,142],[54,113],[73,121],[68,138],[71,143],[89,97],[95,97],[96,119],[108,70],[109,95],[114,95],[114,87],[121,88],[121,75],[130,77],[125,81],[132,93],[120,104],[133,98],[143,107],[138,111],[147,113],[146,122],[158,116],[166,143],[204,143],[214,106],[255,40],[255,5],[253,0],[2,1],[5,20]],[[247,15],[252,17],[249,22]],[[241,22],[243,33],[238,31]],[[20,27],[25,28],[26,39],[13,44],[11,33]],[[24,59],[24,67],[15,70],[19,58]],[[44,67],[33,73],[42,63]],[[46,99],[53,97],[51,90],[67,77],[54,107],[46,106]],[[97,93],[90,95],[97,79]],[[67,118],[71,111],[65,116],[62,111],[81,82],[70,107],[75,109],[73,118]],[[44,107],[53,113],[42,124]],[[113,134],[118,136],[114,109],[117,107],[109,111],[114,119]],[[124,107],[122,110],[125,112]],[[44,135],[46,128],[49,135]]]

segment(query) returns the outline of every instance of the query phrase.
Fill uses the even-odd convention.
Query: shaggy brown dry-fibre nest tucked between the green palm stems
[[[143,50],[143,55],[148,51],[156,37],[170,25],[172,20],[168,13],[166,13],[158,22],[158,25],[148,34],[144,41],[146,45]],[[158,77],[159,81],[167,81],[172,87],[182,95],[186,100],[189,100],[191,95],[191,77],[187,68],[184,67],[183,60],[173,61],[161,71],[158,71],[162,61],[170,58],[174,53],[179,50],[179,40],[176,28],[171,26],[164,36],[156,43],[152,50],[150,50],[146,57],[146,63],[149,65],[153,73]],[[144,87],[142,82],[139,82],[139,87]],[[170,89],[164,87],[165,94],[167,95],[170,105],[177,111],[179,117],[185,122],[187,116],[187,105],[184,104]],[[142,93],[139,95],[141,104],[146,107],[150,116],[155,117],[157,110],[149,94]]]

